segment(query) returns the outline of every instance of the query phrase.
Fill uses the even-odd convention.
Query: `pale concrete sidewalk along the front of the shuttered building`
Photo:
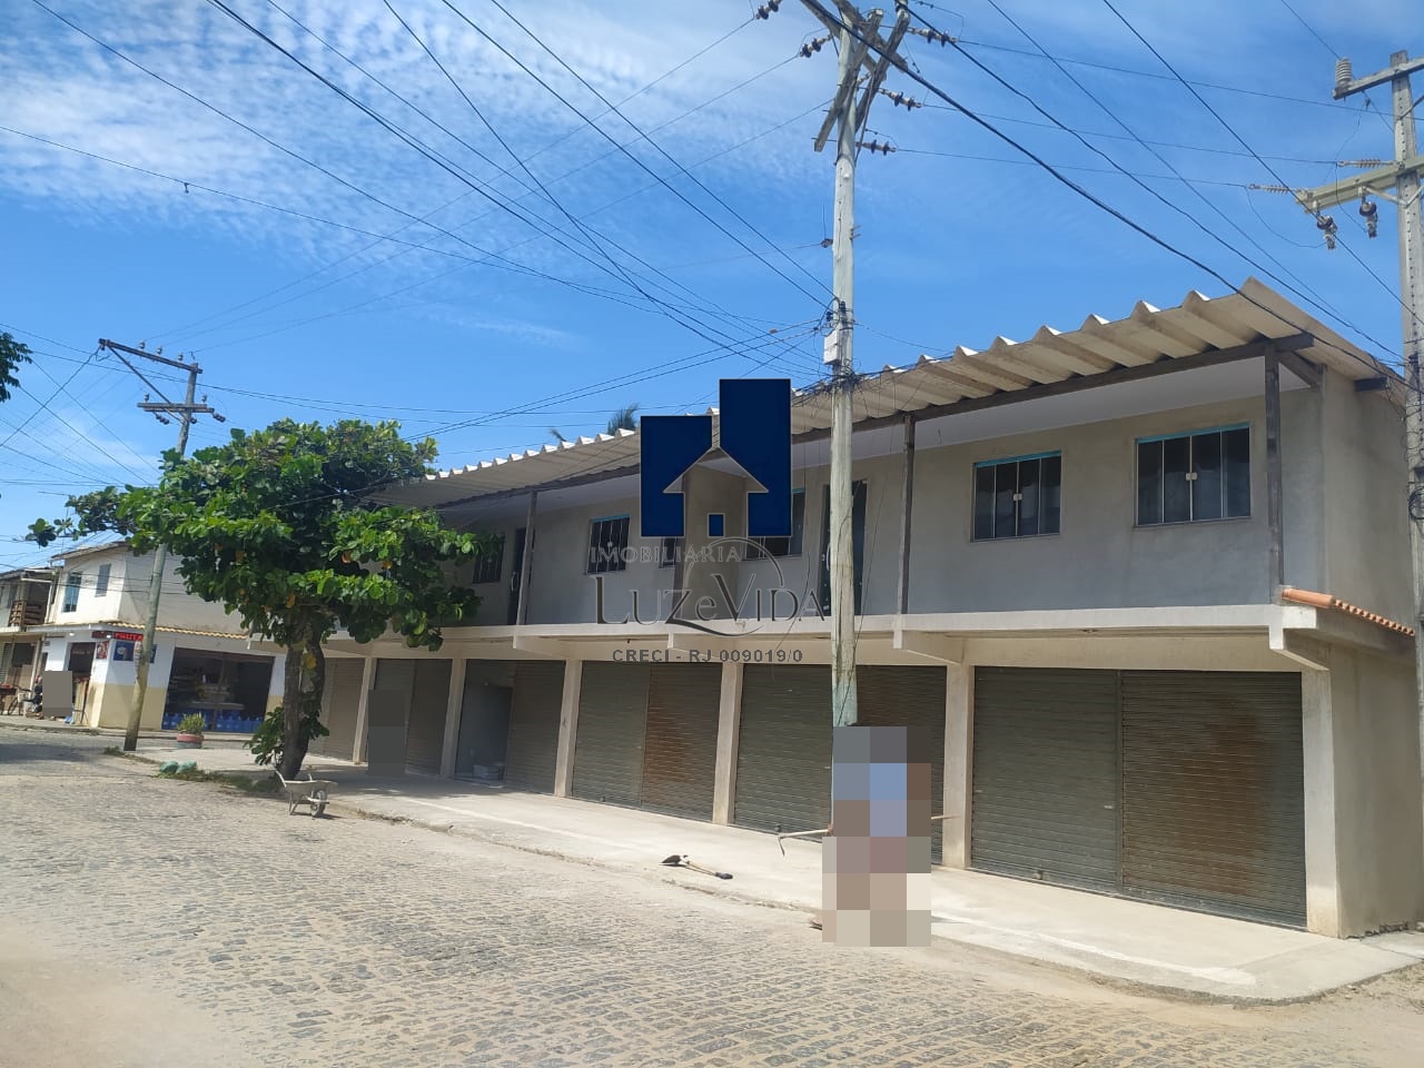
[[[140,746],[148,760],[197,760],[208,772],[266,775],[241,749]],[[721,897],[813,913],[822,847],[740,827],[424,776],[377,779],[346,760],[303,770],[339,783],[330,812],[407,822],[575,863],[639,873]],[[729,871],[718,880],[664,867],[672,854]],[[1326,938],[1304,931],[936,869],[937,938],[970,943],[1176,995],[1245,1002],[1314,997],[1424,960],[1424,933]]]

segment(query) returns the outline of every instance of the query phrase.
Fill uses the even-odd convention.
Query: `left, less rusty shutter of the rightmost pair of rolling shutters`
[[[1118,886],[1118,674],[974,672],[971,864]]]

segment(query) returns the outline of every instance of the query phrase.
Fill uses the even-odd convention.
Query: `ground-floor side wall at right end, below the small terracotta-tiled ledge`
[[[1331,844],[1339,873],[1336,933],[1358,936],[1424,918],[1414,669],[1408,659],[1336,648],[1329,682],[1334,740]],[[1306,789],[1309,810],[1309,776]]]

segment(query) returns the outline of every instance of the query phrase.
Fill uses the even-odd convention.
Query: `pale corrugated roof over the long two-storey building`
[[[1208,298],[1192,290],[1176,308],[1159,309],[1138,302],[1125,319],[1091,315],[1077,330],[1041,326],[1022,342],[995,337],[983,352],[960,346],[947,356],[921,356],[907,367],[887,365],[879,375],[859,382],[856,422],[1296,335],[1314,337],[1310,359],[1349,379],[1398,382],[1398,375],[1367,352],[1252,278],[1227,296]],[[716,409],[708,412],[715,427]],[[829,392],[796,393],[792,431],[807,434],[829,427]],[[638,433],[619,430],[440,471],[423,481],[393,487],[382,497],[410,504],[447,504],[621,468],[631,473],[637,464]]]

